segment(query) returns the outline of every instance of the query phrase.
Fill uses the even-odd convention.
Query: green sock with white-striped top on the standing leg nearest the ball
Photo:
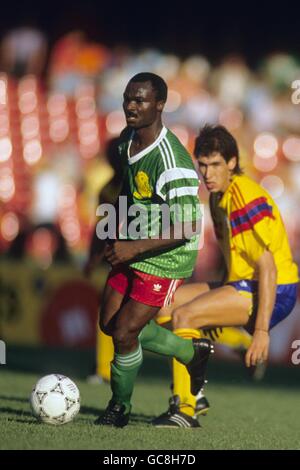
[[[131,409],[131,396],[134,382],[143,362],[141,345],[129,354],[115,353],[114,362],[111,363],[111,390],[112,401],[125,405],[126,413]]]

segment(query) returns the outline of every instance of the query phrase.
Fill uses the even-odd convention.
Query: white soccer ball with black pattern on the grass
[[[65,424],[71,421],[80,409],[80,393],[77,385],[65,375],[46,375],[34,386],[30,405],[39,421]]]

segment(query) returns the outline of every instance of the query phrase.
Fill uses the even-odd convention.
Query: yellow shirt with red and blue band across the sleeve
[[[257,261],[266,248],[274,256],[277,284],[298,282],[298,268],[280,212],[259,184],[247,176],[235,175],[223,196],[211,194],[210,210],[228,282],[257,280]]]

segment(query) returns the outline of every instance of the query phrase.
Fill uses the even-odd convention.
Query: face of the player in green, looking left
[[[129,82],[124,92],[123,109],[127,125],[141,129],[159,119],[163,102],[157,101],[150,82]]]

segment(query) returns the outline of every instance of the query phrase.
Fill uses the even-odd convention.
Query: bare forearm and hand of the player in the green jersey
[[[133,241],[117,240],[107,245],[105,256],[112,266],[125,263],[149,252],[156,252],[181,245],[199,233],[201,222],[185,222],[171,225],[170,230],[162,232],[159,238],[147,238]]]

